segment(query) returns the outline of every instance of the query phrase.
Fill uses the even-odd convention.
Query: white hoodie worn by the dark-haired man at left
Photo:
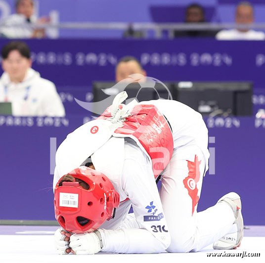
[[[65,116],[54,83],[31,68],[19,83],[11,82],[5,72],[1,75],[0,102],[11,102],[14,116]]]

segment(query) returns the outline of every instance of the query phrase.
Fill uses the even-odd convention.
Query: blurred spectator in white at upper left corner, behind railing
[[[3,22],[6,27],[0,29],[4,38],[44,38],[44,29],[33,29],[32,23],[44,24],[49,22],[48,18],[42,17],[37,20],[34,15],[33,0],[16,0],[16,14],[12,14]],[[23,27],[16,27],[22,25]]]

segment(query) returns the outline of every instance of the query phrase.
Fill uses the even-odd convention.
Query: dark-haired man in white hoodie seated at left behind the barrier
[[[31,68],[26,43],[13,41],[2,48],[0,102],[11,102],[17,116],[64,116],[63,104],[55,85]]]

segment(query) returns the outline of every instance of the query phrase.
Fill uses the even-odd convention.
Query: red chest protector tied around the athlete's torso
[[[110,117],[111,107],[98,118]],[[172,131],[164,115],[154,105],[134,106],[131,115],[123,122],[123,126],[117,128],[114,133],[117,137],[132,138],[149,155],[155,178],[169,164],[174,149]]]

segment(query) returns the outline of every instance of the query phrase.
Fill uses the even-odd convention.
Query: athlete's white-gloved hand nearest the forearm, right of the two
[[[95,254],[102,249],[101,235],[93,231],[84,234],[73,234],[70,236],[71,252],[77,255]]]

